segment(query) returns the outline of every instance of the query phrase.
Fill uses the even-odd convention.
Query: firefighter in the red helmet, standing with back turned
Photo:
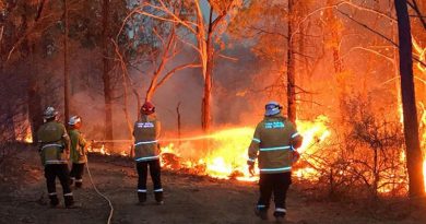
[[[161,123],[155,116],[155,107],[145,102],[141,107],[141,118],[134,122],[134,160],[138,169],[139,204],[146,201],[146,176],[150,167],[151,179],[154,184],[154,196],[157,204],[163,204],[163,188],[159,166],[159,130]]]

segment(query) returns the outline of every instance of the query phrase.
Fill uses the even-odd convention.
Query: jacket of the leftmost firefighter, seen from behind
[[[70,138],[66,127],[56,121],[44,123],[37,131],[42,164],[67,164]]]

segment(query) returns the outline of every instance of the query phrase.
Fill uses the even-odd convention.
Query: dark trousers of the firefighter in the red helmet
[[[150,166],[151,179],[154,184],[154,196],[157,202],[163,201],[163,188],[161,179],[161,166],[159,160],[143,161],[137,163],[138,169],[138,198],[139,202],[146,201],[146,177],[147,167]]]

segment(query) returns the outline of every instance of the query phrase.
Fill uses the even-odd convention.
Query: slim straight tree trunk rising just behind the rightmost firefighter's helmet
[[[288,37],[287,37],[287,116],[288,119],[296,123],[296,78],[295,61],[293,52],[293,0],[288,0]]]

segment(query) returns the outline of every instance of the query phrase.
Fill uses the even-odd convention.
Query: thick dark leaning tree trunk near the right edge
[[[406,0],[395,0],[398,17],[401,95],[409,170],[410,197],[425,196],[423,157],[418,141],[417,110],[413,81],[412,37]]]

